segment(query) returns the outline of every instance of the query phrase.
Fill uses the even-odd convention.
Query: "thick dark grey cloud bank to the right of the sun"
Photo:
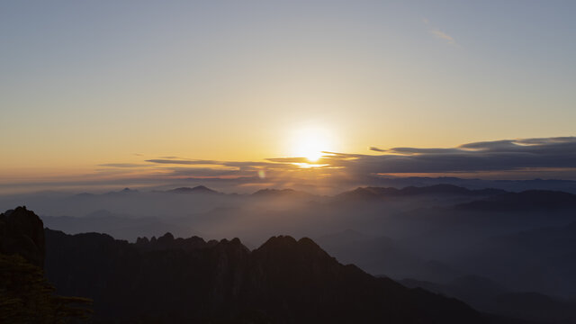
[[[393,154],[326,158],[356,175],[383,173],[453,173],[574,168],[576,137],[505,139],[466,143],[457,148],[391,148]],[[536,172],[535,172],[536,175]]]

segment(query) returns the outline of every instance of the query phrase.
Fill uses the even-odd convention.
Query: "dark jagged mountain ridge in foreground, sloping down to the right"
[[[46,229],[59,293],[94,299],[94,320],[255,323],[481,323],[463,302],[344,266],[310,238],[67,235]]]

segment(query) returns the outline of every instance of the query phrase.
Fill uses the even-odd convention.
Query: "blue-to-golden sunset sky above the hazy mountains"
[[[364,167],[341,166],[342,156],[375,158],[371,175],[529,168],[523,176],[575,178],[572,151],[554,147],[572,148],[574,135],[575,9],[572,1],[2,2],[0,187],[266,179],[293,168],[317,179]],[[453,166],[449,154],[463,153],[454,150],[437,162],[446,167],[399,169],[386,159],[406,154],[393,148],[501,140],[514,152],[552,151],[516,166],[485,156],[491,170]],[[321,151],[340,155],[318,160]]]

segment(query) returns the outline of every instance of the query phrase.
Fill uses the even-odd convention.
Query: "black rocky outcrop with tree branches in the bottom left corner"
[[[92,301],[54,294],[44,276],[44,229],[26,207],[0,214],[0,323],[80,323]]]

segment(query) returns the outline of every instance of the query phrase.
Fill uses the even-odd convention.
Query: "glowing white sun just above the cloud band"
[[[332,149],[331,139],[329,131],[320,127],[296,130],[293,134],[293,156],[317,162],[324,155],[323,151]]]

